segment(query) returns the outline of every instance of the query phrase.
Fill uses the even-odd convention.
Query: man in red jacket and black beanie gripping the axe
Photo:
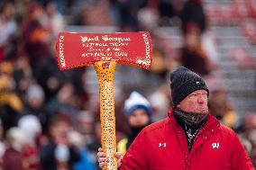
[[[123,157],[120,169],[254,169],[234,131],[208,112],[205,81],[179,67],[171,73],[170,82],[174,106],[168,118],[142,130]],[[98,157],[99,166],[105,166],[102,150]]]

